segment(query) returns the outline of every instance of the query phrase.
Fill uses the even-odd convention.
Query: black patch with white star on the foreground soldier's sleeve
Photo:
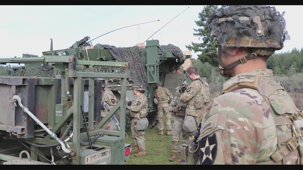
[[[212,165],[217,155],[217,138],[206,136],[200,141],[199,161],[201,165]]]

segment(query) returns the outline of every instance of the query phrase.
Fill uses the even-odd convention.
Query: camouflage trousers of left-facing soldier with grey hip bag
[[[132,137],[134,141],[134,145],[139,147],[140,151],[146,150],[146,140],[145,140],[145,132],[144,130],[136,130],[137,125],[135,122],[137,122],[138,118],[132,118],[130,129],[132,131]]]

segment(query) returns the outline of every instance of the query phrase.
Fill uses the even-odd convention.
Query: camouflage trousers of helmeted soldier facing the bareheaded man
[[[182,132],[182,143],[188,144],[190,142],[188,140],[189,133],[186,130],[183,130],[183,123],[184,123],[184,117],[176,116],[173,122],[173,129],[171,131],[171,135],[173,136],[173,139],[171,140],[171,143],[173,145],[171,151],[174,153],[177,153],[179,151],[178,143],[180,140],[181,132]]]

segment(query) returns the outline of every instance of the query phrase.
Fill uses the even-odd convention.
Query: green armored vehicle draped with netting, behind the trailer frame
[[[148,115],[149,128],[153,128],[158,123],[157,105],[153,103],[153,94],[155,83],[162,82],[163,87],[167,87],[173,96],[176,96],[176,88],[184,81],[189,80],[185,74],[186,68],[190,65],[190,51],[181,51],[179,47],[173,44],[159,45],[158,40],[146,41],[146,45],[138,43],[132,47],[115,47],[108,44],[93,45],[89,41],[90,37],[86,36],[83,39],[76,41],[67,49],[51,50],[42,52],[43,56],[76,56],[77,60],[91,61],[89,67],[78,67],[78,70],[110,74],[128,74],[126,85],[126,96],[129,100],[133,100],[132,83],[140,82],[145,87],[143,93],[148,100]],[[35,55],[23,54],[23,57],[37,57]],[[129,64],[125,70],[121,70],[119,66],[100,67],[94,66],[93,61],[126,62]],[[48,70],[47,67],[38,66],[32,67],[30,64],[25,65],[29,70],[21,70],[17,73],[19,76],[42,76],[37,69]],[[52,76],[52,71],[44,76]],[[22,74],[19,74],[19,73]],[[56,72],[56,71],[55,71]],[[57,73],[54,74],[56,76]],[[111,90],[117,100],[120,101],[121,95],[121,79],[107,78],[108,89]],[[115,114],[119,120],[120,113]],[[126,116],[126,129],[128,126],[128,117]]]

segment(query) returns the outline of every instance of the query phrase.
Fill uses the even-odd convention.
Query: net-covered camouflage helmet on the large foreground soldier
[[[223,47],[253,47],[253,52],[270,56],[290,40],[285,30],[285,12],[266,5],[222,5],[206,24],[211,36]]]

